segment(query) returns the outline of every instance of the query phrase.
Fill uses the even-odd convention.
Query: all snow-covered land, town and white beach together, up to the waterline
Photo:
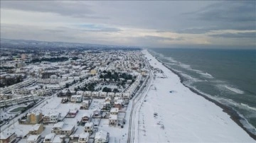
[[[0,74],[1,143],[252,142],[147,50],[6,48]]]

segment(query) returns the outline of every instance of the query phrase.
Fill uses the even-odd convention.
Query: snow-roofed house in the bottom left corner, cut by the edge
[[[0,142],[1,143],[13,143],[16,141],[16,133],[14,130],[6,129],[0,134]]]

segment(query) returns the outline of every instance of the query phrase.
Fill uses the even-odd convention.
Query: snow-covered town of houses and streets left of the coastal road
[[[19,53],[1,57],[1,142],[127,142],[129,103],[149,78],[142,52]]]

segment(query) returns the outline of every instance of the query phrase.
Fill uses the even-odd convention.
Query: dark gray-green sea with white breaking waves
[[[256,50],[149,49],[183,84],[232,107],[256,135]]]

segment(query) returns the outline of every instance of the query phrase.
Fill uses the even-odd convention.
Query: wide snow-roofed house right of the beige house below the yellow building
[[[71,135],[75,131],[75,125],[68,125],[64,122],[57,122],[53,125],[52,133],[56,135]]]

